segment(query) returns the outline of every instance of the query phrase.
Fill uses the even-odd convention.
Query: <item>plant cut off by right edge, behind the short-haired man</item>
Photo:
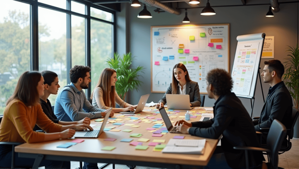
[[[289,53],[286,58],[285,65],[285,74],[283,76],[283,80],[286,86],[289,88],[289,92],[294,99],[295,107],[299,106],[299,47],[298,44],[296,47],[288,46]]]

